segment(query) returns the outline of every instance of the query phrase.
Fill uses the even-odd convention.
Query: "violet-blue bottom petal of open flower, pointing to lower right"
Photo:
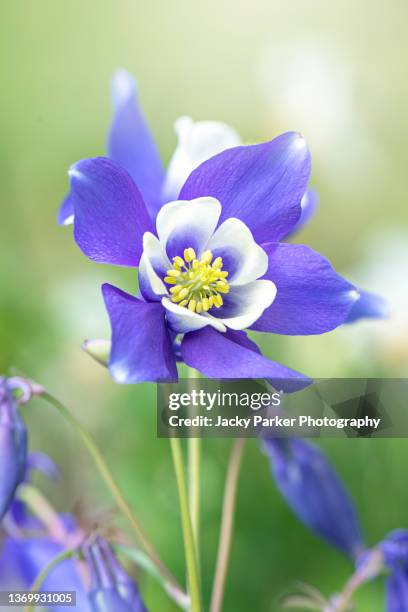
[[[181,354],[184,362],[208,378],[267,378],[302,388],[308,379],[279,363],[261,355],[258,347],[242,332],[220,333],[206,327],[184,336]],[[282,386],[283,384],[283,386]],[[274,385],[275,386],[275,385]]]

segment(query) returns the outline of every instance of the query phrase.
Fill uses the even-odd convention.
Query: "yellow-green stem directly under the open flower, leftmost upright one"
[[[183,466],[183,454],[179,438],[170,437],[174,472],[180,503],[181,527],[183,530],[184,552],[187,566],[188,588],[191,596],[191,612],[201,612],[200,578],[197,553],[194,545],[193,528],[188,507],[188,494]]]

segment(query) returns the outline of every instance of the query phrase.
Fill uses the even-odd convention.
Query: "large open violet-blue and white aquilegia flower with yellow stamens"
[[[172,381],[181,358],[211,378],[303,378],[262,356],[243,330],[324,333],[346,322],[360,299],[327,259],[281,242],[315,205],[304,139],[290,132],[233,146],[231,132],[210,138],[205,151],[203,135],[184,120],[165,177],[134,88],[120,79],[111,159],[71,167],[60,211],[61,222],[74,220],[90,259],[139,267],[138,297],[103,286],[111,375]]]

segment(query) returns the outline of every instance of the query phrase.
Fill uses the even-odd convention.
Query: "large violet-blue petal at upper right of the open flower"
[[[222,205],[220,223],[229,217],[241,219],[262,244],[280,240],[296,225],[309,174],[305,141],[288,132],[211,157],[190,174],[180,199],[215,197]]]

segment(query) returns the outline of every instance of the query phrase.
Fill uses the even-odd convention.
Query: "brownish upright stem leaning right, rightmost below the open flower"
[[[234,527],[237,485],[245,442],[245,438],[238,438],[237,440],[235,440],[228,463],[227,477],[225,479],[224,501],[222,506],[217,564],[215,568],[210,612],[220,612],[222,609],[225,581],[227,578],[228,561],[231,551],[232,530]]]

